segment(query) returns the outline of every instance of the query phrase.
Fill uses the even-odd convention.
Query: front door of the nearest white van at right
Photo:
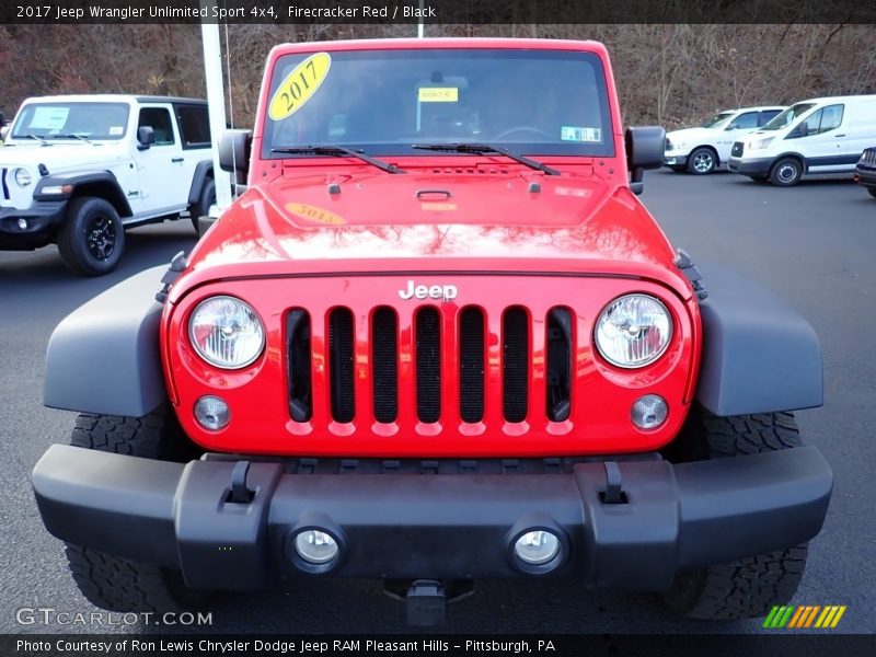
[[[809,173],[837,173],[849,170],[849,141],[843,125],[845,105],[826,105],[812,112],[785,140],[806,158]]]

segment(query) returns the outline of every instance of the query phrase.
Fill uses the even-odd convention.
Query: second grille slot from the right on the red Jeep
[[[508,422],[523,422],[529,405],[529,318],[518,306],[502,321],[503,410]]]

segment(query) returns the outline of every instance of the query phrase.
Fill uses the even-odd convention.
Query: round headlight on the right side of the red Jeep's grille
[[[659,358],[672,336],[669,311],[654,297],[627,295],[609,303],[596,323],[596,346],[618,367],[644,367]]]

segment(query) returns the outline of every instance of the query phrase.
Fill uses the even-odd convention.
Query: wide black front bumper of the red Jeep
[[[538,475],[287,474],[253,462],[254,497],[239,504],[229,502],[234,465],[56,445],[33,482],[57,538],[180,568],[195,588],[230,590],[311,575],[291,558],[291,537],[308,528],[337,538],[330,573],[342,577],[526,576],[511,545],[549,529],[563,545],[552,573],[660,590],[680,568],[811,539],[833,482],[814,447],[678,465],[619,461],[625,504],[602,502],[613,470],[602,462]]]

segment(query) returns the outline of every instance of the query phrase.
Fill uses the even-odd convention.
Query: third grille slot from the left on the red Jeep
[[[378,422],[395,422],[399,416],[397,326],[391,308],[378,308],[371,315],[371,382]]]

